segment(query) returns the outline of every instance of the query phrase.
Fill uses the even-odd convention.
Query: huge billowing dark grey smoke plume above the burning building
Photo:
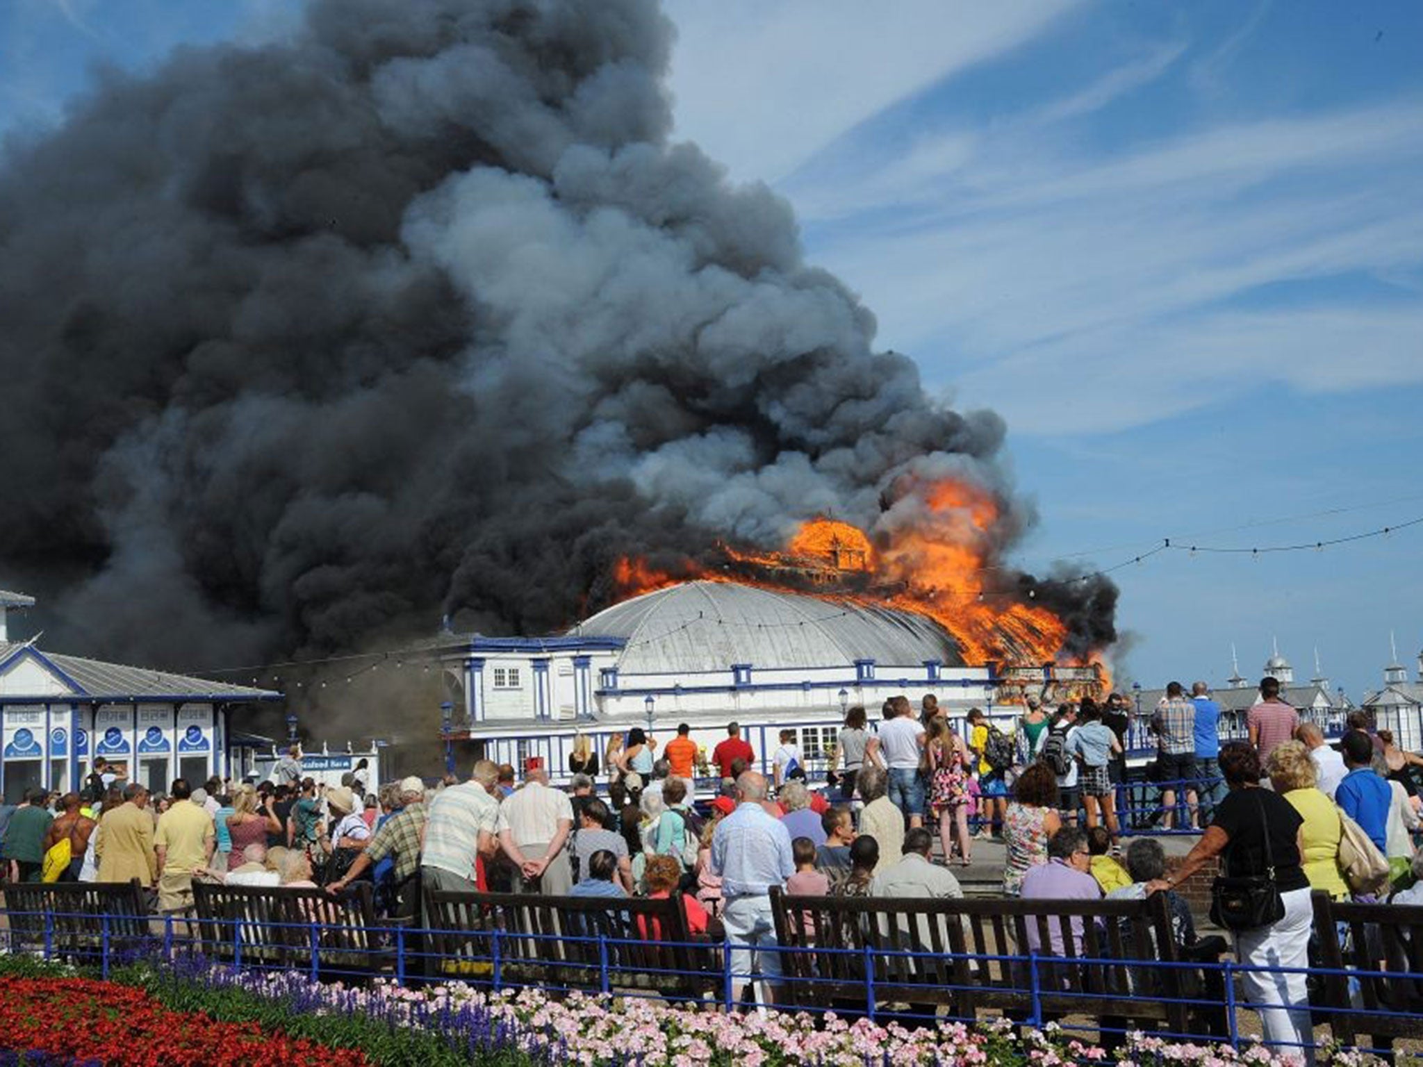
[[[1006,492],[998,415],[926,398],[784,201],[667,142],[670,40],[652,0],[316,0],[9,145],[0,578],[54,643],[544,632],[623,553],[874,528],[926,457]]]

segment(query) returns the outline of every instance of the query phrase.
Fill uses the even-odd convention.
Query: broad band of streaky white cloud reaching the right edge
[[[921,142],[861,185],[825,175],[822,192],[793,192],[868,212],[895,191],[889,223],[825,225],[815,250],[931,381],[1017,434],[1062,432],[1064,407],[1083,415],[1072,425],[1137,425],[1261,381],[1423,381],[1423,100],[1218,125],[1111,158],[1052,137],[1026,151],[1029,125],[941,138],[956,155],[938,175]],[[1346,303],[1339,279],[1377,299]],[[1285,310],[1261,297],[1303,283],[1315,290]]]

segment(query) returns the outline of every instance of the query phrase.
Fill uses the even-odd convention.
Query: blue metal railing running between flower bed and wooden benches
[[[68,912],[26,912],[0,908],[6,929],[0,929],[0,946],[11,953],[30,953],[43,959],[63,959],[83,966],[92,966],[104,977],[110,977],[114,966],[141,960],[174,965],[179,960],[203,962],[215,967],[213,973],[233,975],[286,972],[305,975],[310,982],[364,980],[373,975],[391,975],[401,984],[431,982],[465,982],[488,990],[538,987],[548,993],[564,993],[575,989],[619,996],[660,997],[669,996],[656,982],[646,979],[679,980],[677,999],[693,999],[717,1003],[724,1010],[736,1010],[741,1004],[741,990],[753,982],[763,980],[756,972],[733,969],[731,945],[709,942],[662,942],[666,947],[684,947],[706,966],[693,969],[665,967],[655,975],[633,973],[619,960],[626,959],[626,949],[645,946],[642,939],[606,935],[551,935],[507,932],[502,929],[455,932],[461,940],[458,955],[430,950],[434,938],[451,936],[448,930],[431,930],[410,926],[356,928],[334,923],[292,923],[272,922],[260,928],[236,919],[194,919],[175,915],[154,916],[147,920],[147,929],[135,930],[131,915],[92,915]],[[57,920],[68,920],[57,923]],[[137,920],[144,923],[144,920]],[[92,928],[92,930],[81,929]],[[97,932],[95,932],[97,930]],[[1063,920],[1064,936],[1072,936]],[[263,939],[262,935],[266,935]],[[517,942],[511,946],[509,940]],[[482,945],[487,947],[480,949]],[[572,953],[569,946],[591,946],[593,952]],[[868,943],[858,947],[783,947],[761,946],[758,952],[810,953],[820,960],[820,967],[830,967],[834,959],[854,957],[859,976],[850,982],[841,976],[827,976],[815,967],[810,973],[793,973],[794,967],[781,967],[783,977],[776,983],[776,1006],[787,1010],[813,1014],[837,1012],[840,1014],[864,1014],[871,1020],[896,1019],[919,1021],[978,1021],[973,1017],[958,1017],[953,1013],[953,994],[990,992],[999,999],[1016,997],[1020,1009],[1007,1014],[1023,1026],[1042,1027],[1057,1021],[1064,1030],[1091,1031],[1099,1036],[1121,1036],[1131,1029],[1126,1020],[1155,1019],[1158,1026],[1150,1031],[1155,1036],[1175,1040],[1228,1041],[1239,1047],[1251,1040],[1242,1027],[1242,1017],[1261,1010],[1309,1010],[1309,1004],[1247,1003],[1237,989],[1235,980],[1251,973],[1305,975],[1306,977],[1329,979],[1346,976],[1353,983],[1373,982],[1379,989],[1392,990],[1412,987],[1423,990],[1423,973],[1416,972],[1372,972],[1329,967],[1281,967],[1254,966],[1232,960],[1221,962],[1164,962],[1138,959],[1116,959],[1106,956],[1056,956],[1037,950],[1013,952],[1012,946],[999,946],[999,952],[985,953],[933,953],[915,949],[885,949]],[[573,957],[582,955],[582,959]],[[925,1000],[918,1007],[896,1007],[888,1002],[888,992],[899,996],[914,996],[915,975],[924,975],[935,965],[969,966],[975,979],[969,984],[953,982],[922,986]],[[952,967],[951,967],[952,969]],[[1091,969],[1101,969],[1096,977],[1087,979]],[[1113,977],[1113,972],[1127,972],[1130,977]],[[1217,977],[1218,994],[1204,993],[1165,996],[1161,990],[1173,983],[1165,980],[1168,972],[1200,976],[1200,989],[1207,989],[1205,979]],[[1064,975],[1077,975],[1076,984],[1064,983]],[[228,979],[223,979],[228,980]],[[236,980],[236,979],[233,979]],[[1116,984],[1114,984],[1116,983]],[[1124,984],[1123,984],[1124,983]],[[854,987],[852,1004],[827,1002],[827,990],[834,986],[844,992]],[[817,989],[818,987],[818,989]],[[1138,990],[1148,992],[1138,992]],[[1079,1021],[1081,1013],[1072,1004],[1081,1000],[1097,1000],[1110,996],[1121,1004],[1121,1010],[1106,1020]],[[1359,999],[1348,1004],[1329,1004],[1326,1010],[1335,1017],[1349,1017],[1358,1030],[1369,1031],[1369,1020],[1392,1017],[1396,1013],[1383,1009],[1359,1007]],[[928,1013],[925,1012],[928,1006]],[[1177,1030],[1165,1024],[1170,1012],[1163,1014],[1163,1006],[1177,1007],[1188,1019],[1200,1020],[1218,1013],[1224,1026],[1197,1030],[1187,1026]],[[939,1014],[945,1009],[946,1014]],[[1114,1024],[1121,1020],[1121,1026]],[[1106,1040],[1106,1037],[1101,1037]]]

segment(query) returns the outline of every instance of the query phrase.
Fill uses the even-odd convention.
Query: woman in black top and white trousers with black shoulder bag
[[[1259,1010],[1266,1043],[1312,1064],[1315,1043],[1302,970],[1309,966],[1313,925],[1309,878],[1301,864],[1305,819],[1278,792],[1259,788],[1259,755],[1251,744],[1221,745],[1218,763],[1229,792],[1215,808],[1214,821],[1181,865],[1147,889],[1174,889],[1221,856],[1211,918],[1235,935],[1241,966],[1261,967],[1241,975],[1245,996]]]

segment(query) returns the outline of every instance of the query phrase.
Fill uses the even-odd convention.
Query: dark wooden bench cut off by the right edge
[[[1322,976],[1316,1009],[1329,1014],[1335,1040],[1392,1049],[1397,1037],[1423,1037],[1423,906],[1342,903],[1313,893]],[[1340,926],[1348,938],[1340,938]],[[1412,975],[1414,977],[1405,977]],[[1358,1000],[1350,990],[1358,983]],[[1368,1036],[1369,1041],[1360,1041]]]

